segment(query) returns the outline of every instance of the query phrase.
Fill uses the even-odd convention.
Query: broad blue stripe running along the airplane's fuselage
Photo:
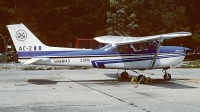
[[[74,51],[31,51],[31,52],[18,52],[19,59],[31,58],[31,57],[48,57],[48,58],[80,58],[80,57],[114,57],[114,56],[145,56],[154,55],[156,50],[146,50],[139,52],[126,52],[119,53],[113,52],[113,48],[104,51],[102,49],[98,50],[74,50]],[[182,47],[173,46],[161,46],[159,54],[180,54],[180,52],[175,52],[177,49],[181,50]],[[183,52],[182,52],[183,53]]]

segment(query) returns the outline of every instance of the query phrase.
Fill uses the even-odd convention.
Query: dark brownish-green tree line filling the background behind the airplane
[[[6,25],[24,23],[50,46],[75,43],[76,38],[101,35],[147,36],[190,31],[192,37],[164,41],[165,45],[200,47],[198,0],[0,0],[0,34]],[[4,49],[0,39],[0,48]]]

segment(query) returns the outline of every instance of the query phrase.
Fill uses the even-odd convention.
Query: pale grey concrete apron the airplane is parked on
[[[135,88],[115,69],[0,70],[0,111],[199,112],[200,69],[168,72],[167,82],[161,70],[147,71],[153,83]]]

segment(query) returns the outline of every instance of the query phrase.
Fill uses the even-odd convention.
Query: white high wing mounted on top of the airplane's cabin
[[[174,32],[174,33],[146,36],[146,37],[100,36],[94,39],[100,43],[123,45],[123,44],[140,43],[153,40],[164,40],[177,37],[186,37],[191,35],[192,34],[190,32]]]

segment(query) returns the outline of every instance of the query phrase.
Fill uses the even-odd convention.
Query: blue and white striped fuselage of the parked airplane
[[[115,46],[107,45],[98,50],[50,53],[38,58],[48,57],[49,60],[37,61],[35,64],[56,66],[80,66],[113,69],[147,69],[150,67],[156,53],[156,43],[137,43]],[[36,56],[37,57],[37,56]],[[185,57],[183,47],[161,46],[155,66],[152,69],[175,67]],[[25,62],[30,58],[19,57]]]

